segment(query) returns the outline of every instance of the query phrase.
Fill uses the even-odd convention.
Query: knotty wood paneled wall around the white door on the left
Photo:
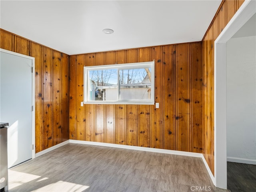
[[[35,58],[36,152],[68,140],[69,56],[2,29],[0,47]]]

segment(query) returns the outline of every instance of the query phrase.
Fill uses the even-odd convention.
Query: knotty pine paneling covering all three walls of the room
[[[203,152],[214,174],[214,40],[243,2],[223,0],[202,43],[68,56],[1,29],[1,48],[36,58],[36,152],[69,138]],[[160,108],[80,106],[83,66],[152,60]]]

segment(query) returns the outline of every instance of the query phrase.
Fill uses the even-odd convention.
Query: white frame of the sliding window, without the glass
[[[88,88],[90,87],[89,70],[118,70],[118,89],[120,89],[119,83],[119,70],[125,69],[139,69],[139,68],[151,68],[151,99],[148,100],[120,100],[118,94],[118,100],[116,101],[98,101],[98,100],[88,100],[90,92]],[[144,105],[154,105],[154,90],[155,90],[155,62],[138,62],[138,63],[126,63],[126,64],[113,64],[113,65],[100,65],[100,66],[84,66],[84,104],[144,104]]]

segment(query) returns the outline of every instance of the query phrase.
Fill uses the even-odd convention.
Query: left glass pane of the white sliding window
[[[89,70],[89,100],[118,100],[117,69]]]

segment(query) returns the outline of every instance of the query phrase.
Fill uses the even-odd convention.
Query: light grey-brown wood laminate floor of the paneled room
[[[9,170],[9,192],[225,192],[201,158],[66,144]]]

